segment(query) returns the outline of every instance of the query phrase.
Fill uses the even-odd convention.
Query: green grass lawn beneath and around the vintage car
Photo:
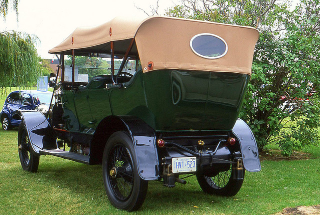
[[[110,205],[100,165],[41,156],[37,173],[23,171],[17,129],[0,129],[0,214],[126,214]],[[313,152],[312,152],[313,151]],[[271,214],[284,207],[320,203],[320,149],[313,159],[261,162],[246,172],[233,197],[204,194],[194,176],[186,185],[150,181],[146,200],[132,214]]]

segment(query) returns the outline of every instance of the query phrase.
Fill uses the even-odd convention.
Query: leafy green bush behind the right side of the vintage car
[[[293,12],[288,8],[275,0],[185,0],[166,12],[259,30],[240,118],[260,150],[275,141],[285,155],[315,144],[320,126],[320,4],[302,0]]]

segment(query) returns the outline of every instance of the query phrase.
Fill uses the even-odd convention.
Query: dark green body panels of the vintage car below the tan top
[[[136,116],[155,131],[231,130],[249,76],[183,70],[138,71],[121,87],[63,90],[67,130],[95,129],[109,115]]]

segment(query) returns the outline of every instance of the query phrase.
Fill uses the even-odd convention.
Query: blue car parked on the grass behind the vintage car
[[[4,101],[0,112],[2,128],[9,130],[19,126],[21,116],[19,110],[48,110],[52,92],[42,92],[37,90],[21,90],[11,92]]]

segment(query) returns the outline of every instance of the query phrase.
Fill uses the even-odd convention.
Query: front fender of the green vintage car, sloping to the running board
[[[56,137],[45,116],[39,111],[20,111],[33,151],[55,149]]]

